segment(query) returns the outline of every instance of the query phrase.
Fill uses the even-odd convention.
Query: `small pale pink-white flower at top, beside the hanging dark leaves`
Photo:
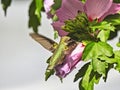
[[[44,0],[44,9],[45,9],[45,12],[47,13],[48,15],[48,18],[51,17],[51,14],[49,13],[50,10],[51,10],[51,6],[54,4],[54,0]]]

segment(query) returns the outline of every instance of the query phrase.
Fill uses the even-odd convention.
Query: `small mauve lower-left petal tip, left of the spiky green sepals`
[[[52,26],[54,28],[54,30],[58,31],[58,34],[62,37],[62,36],[66,36],[68,34],[68,32],[65,32],[64,30],[61,29],[61,27],[64,25],[64,23],[57,21],[57,22],[53,22]]]

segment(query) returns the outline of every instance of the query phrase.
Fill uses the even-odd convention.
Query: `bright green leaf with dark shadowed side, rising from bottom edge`
[[[89,64],[79,82],[79,90],[94,90],[94,84],[98,84],[101,77],[101,74],[94,72],[92,64]]]

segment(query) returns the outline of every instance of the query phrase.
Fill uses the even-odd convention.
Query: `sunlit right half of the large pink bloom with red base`
[[[84,12],[90,20],[102,21],[110,14],[120,11],[120,4],[113,3],[113,0],[87,0],[84,5]]]

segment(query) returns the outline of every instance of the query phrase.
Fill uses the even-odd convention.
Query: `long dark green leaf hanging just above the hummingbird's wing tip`
[[[35,0],[33,0],[29,7],[29,28],[32,27],[33,31],[37,33],[38,26],[40,26],[40,18],[38,18],[38,15],[36,15],[35,12],[36,12],[36,2]]]

